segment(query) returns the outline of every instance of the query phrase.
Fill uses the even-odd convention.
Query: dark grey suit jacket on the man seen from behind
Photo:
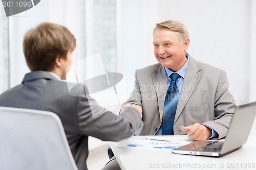
[[[99,107],[84,90],[83,85],[77,85],[70,92],[66,82],[56,80],[49,72],[33,71],[25,76],[22,84],[0,95],[0,106],[56,113],[78,169],[87,169],[89,135],[104,141],[125,139],[139,129],[141,117],[132,107],[117,116]],[[103,114],[92,115],[92,110]]]

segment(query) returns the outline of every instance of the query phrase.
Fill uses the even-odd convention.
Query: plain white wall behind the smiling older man
[[[135,69],[157,62],[152,45],[155,23],[178,20],[190,35],[187,52],[227,72],[236,103],[256,100],[255,1],[124,0],[120,5],[119,69],[129,93]]]

